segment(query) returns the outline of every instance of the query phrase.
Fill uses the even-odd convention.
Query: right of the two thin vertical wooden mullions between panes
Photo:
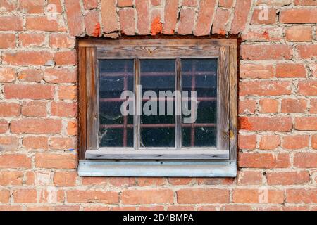
[[[175,148],[180,150],[182,148],[182,77],[181,77],[181,60],[175,60]]]

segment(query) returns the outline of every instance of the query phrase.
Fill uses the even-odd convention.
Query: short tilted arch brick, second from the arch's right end
[[[223,8],[218,8],[216,11],[215,19],[213,21],[213,34],[223,34],[227,33],[228,20],[230,18],[230,11]]]

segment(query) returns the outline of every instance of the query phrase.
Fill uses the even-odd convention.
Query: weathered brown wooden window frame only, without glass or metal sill
[[[98,62],[105,58],[218,58],[217,148],[98,148]],[[178,70],[179,71],[179,70]],[[181,79],[177,74],[176,79]],[[122,39],[79,41],[79,152],[80,160],[229,160],[237,155],[237,40],[236,39]],[[136,79],[135,82],[138,82]],[[178,84],[178,82],[176,82]],[[178,88],[178,87],[176,87]],[[180,102],[180,101],[177,101]],[[137,103],[137,102],[136,102]],[[136,105],[137,106],[137,105]],[[179,108],[180,105],[176,105]],[[137,108],[137,107],[136,107]],[[180,122],[180,118],[176,118]],[[139,129],[136,122],[135,129]],[[179,136],[180,131],[176,130]],[[137,139],[137,136],[135,137]],[[101,150],[102,149],[102,150]],[[137,148],[138,149],[138,148]]]

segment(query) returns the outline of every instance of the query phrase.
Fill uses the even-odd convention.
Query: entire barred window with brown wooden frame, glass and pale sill
[[[235,176],[236,39],[79,41],[82,176]]]

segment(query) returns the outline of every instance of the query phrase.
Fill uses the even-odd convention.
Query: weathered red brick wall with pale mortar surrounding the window
[[[316,15],[314,0],[0,0],[0,210],[317,210]],[[236,179],[77,176],[75,37],[122,34],[242,37]]]

